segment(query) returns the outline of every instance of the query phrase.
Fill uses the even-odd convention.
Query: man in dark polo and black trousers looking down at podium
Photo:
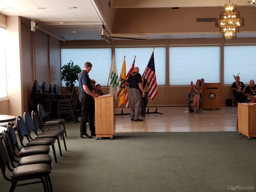
[[[81,103],[81,123],[80,123],[80,136],[81,138],[90,139],[95,135],[95,126],[94,126],[94,106],[93,101],[94,97],[98,97],[97,93],[92,93],[93,87],[91,79],[89,78],[88,73],[92,70],[92,63],[86,62],[84,64],[84,69],[78,75],[79,83],[79,101]],[[88,119],[89,117],[89,119]],[[91,136],[86,132],[86,122],[89,122],[89,127],[91,131]]]

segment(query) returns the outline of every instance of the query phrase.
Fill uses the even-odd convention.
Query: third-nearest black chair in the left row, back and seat
[[[50,147],[46,145],[37,145],[37,146],[26,146],[24,148],[19,148],[18,140],[12,125],[7,123],[7,131],[9,138],[12,142],[12,148],[14,151],[19,151],[19,155],[14,154],[16,157],[29,156],[29,155],[37,155],[37,154],[49,154]]]

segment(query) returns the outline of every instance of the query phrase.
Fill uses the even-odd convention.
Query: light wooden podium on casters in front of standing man
[[[115,98],[113,95],[95,97],[95,134],[113,139],[115,132]]]

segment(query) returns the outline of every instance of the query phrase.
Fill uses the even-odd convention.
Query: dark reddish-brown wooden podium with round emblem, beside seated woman
[[[202,91],[203,109],[221,108],[221,83],[204,83]]]

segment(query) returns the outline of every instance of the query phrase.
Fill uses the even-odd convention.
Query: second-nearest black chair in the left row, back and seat
[[[8,152],[9,159],[13,168],[22,166],[22,165],[39,164],[39,163],[45,163],[51,166],[52,158],[48,154],[24,156],[24,157],[20,157],[19,160],[16,160],[14,155],[15,152],[12,148],[12,142],[9,138],[9,135],[4,130],[3,130],[3,137],[4,137],[5,148]],[[18,163],[17,166],[14,165],[14,162]]]

